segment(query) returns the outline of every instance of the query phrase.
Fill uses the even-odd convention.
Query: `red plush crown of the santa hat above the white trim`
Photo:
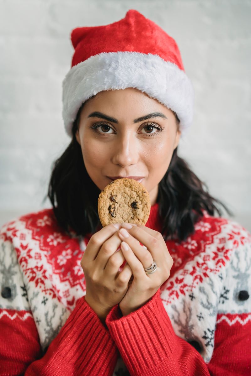
[[[71,42],[75,48],[72,67],[101,52],[131,51],[159,55],[184,71],[175,40],[134,9],[109,25],[77,27],[71,32]]]

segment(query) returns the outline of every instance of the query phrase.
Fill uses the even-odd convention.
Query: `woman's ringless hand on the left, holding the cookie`
[[[118,228],[108,224],[94,233],[90,238],[81,259],[81,267],[85,274],[85,301],[90,305],[102,323],[113,308],[126,294],[132,270],[126,264],[122,271],[120,266],[125,261],[119,248],[122,240]]]

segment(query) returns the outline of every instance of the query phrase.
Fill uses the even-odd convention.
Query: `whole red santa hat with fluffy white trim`
[[[79,108],[104,90],[137,88],[175,111],[183,135],[192,123],[194,91],[175,40],[153,21],[130,9],[125,18],[105,26],[77,27],[75,49],[63,80],[65,130]]]

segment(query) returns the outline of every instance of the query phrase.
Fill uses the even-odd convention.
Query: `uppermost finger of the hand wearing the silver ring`
[[[143,244],[148,249],[148,251],[151,253],[154,261],[157,262],[157,261],[160,260],[160,257],[161,257],[160,247],[165,244],[165,249],[167,249],[166,243],[164,243],[164,239],[163,239],[161,233],[159,233],[158,231],[153,232],[154,230],[152,230],[152,229],[146,230],[145,226],[142,226],[142,227],[145,227],[143,229],[141,226],[142,225],[133,226],[131,229],[128,229],[126,231],[129,233],[129,235],[131,235],[133,238],[137,239],[141,244]],[[122,230],[123,229],[119,230],[119,232],[118,232],[119,236],[120,236]],[[125,240],[125,238],[123,238],[122,240]],[[127,239],[126,239],[126,243],[128,243]]]

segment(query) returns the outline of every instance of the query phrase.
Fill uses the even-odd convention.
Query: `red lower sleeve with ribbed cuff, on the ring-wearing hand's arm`
[[[133,376],[249,374],[250,334],[246,329],[239,328],[234,335],[234,329],[229,328],[228,334],[231,331],[232,334],[226,338],[228,334],[219,326],[215,354],[206,364],[193,346],[175,334],[161,301],[160,289],[144,306],[127,316],[121,317],[118,305],[115,306],[106,317],[106,324]],[[243,348],[246,349],[244,353]]]

